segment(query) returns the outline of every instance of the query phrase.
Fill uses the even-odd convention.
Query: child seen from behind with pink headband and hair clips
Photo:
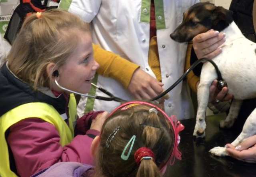
[[[160,177],[168,164],[181,159],[178,133],[183,129],[156,105],[130,101],[110,113],[93,140],[94,172],[90,165],[68,162],[33,177]]]

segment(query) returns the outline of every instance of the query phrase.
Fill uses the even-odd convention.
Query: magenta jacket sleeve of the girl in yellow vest
[[[97,132],[91,131],[90,134]],[[12,125],[7,137],[21,177],[29,177],[57,162],[76,161],[93,165],[92,140],[88,135],[77,135],[70,144],[62,147],[54,125],[39,118],[24,119]]]

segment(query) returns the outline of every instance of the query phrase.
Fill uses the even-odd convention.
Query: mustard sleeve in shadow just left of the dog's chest
[[[186,52],[186,64],[185,64],[185,72],[186,70],[188,70],[188,68],[190,68],[191,66],[191,51],[192,51],[192,43],[188,43],[188,48],[187,48],[187,52]],[[188,76],[187,76],[187,81],[188,81],[188,85],[190,86],[190,88],[194,91],[197,92],[197,88],[196,88],[196,83],[200,80],[200,78],[198,76],[196,76],[194,74],[194,70],[192,70]]]

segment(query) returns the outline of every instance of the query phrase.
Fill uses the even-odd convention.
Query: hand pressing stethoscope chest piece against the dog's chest
[[[197,83],[198,87],[199,82]],[[209,95],[209,102],[216,103],[216,100],[218,101],[229,101],[233,98],[233,95],[228,93],[228,88],[224,87],[222,90],[219,90],[217,88],[218,81],[214,80],[212,82],[212,85],[210,86],[210,95]]]

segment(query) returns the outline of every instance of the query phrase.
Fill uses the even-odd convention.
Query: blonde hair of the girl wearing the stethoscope
[[[78,32],[89,32],[88,24],[64,10],[53,9],[38,18],[32,14],[22,28],[7,56],[8,67],[34,89],[49,87],[46,66],[62,66],[78,45]]]

